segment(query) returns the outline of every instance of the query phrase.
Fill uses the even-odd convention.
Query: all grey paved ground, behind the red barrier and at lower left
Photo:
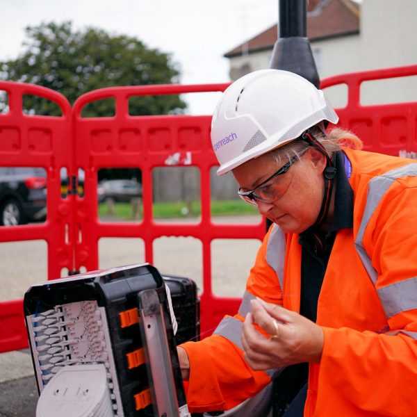
[[[238,222],[258,222],[245,216]],[[230,222],[230,218],[216,218]],[[236,218],[234,218],[236,222]],[[213,291],[240,296],[259,240],[214,240]],[[139,239],[104,238],[99,242],[100,268],[145,261]],[[0,301],[22,298],[32,285],[47,279],[47,243],[43,240],[0,243]],[[190,277],[202,286],[202,245],[194,238],[164,237],[154,243],[154,265],[162,273]],[[28,350],[0,354],[0,417],[33,417],[38,398]]]

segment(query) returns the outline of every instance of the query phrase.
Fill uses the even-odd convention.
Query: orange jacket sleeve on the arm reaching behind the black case
[[[277,275],[265,258],[268,236],[269,232],[250,271],[239,313],[234,317],[226,316],[215,334],[203,341],[181,345],[190,359],[190,379],[186,390],[190,412],[231,409],[270,383],[274,370],[252,370],[243,357],[240,343],[242,323],[250,311],[252,298],[261,297],[276,304],[282,302]]]

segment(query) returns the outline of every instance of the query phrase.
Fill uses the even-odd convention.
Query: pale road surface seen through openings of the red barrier
[[[243,216],[242,223],[259,218]],[[230,222],[230,218],[216,218]],[[234,218],[236,222],[236,218]],[[218,295],[239,296],[245,289],[259,240],[213,240],[213,290]],[[99,267],[142,263],[145,250],[142,240],[102,238],[99,240]],[[22,298],[32,285],[47,279],[47,243],[44,240],[0,243],[0,301]],[[184,275],[202,285],[202,245],[195,238],[163,237],[154,242],[154,265],[162,273]]]

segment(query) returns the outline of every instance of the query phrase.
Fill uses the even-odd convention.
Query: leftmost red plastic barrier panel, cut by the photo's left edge
[[[47,174],[47,220],[42,224],[0,227],[0,242],[45,240],[48,277],[60,277],[61,269],[73,270],[69,234],[74,202],[71,195],[63,199],[60,193],[60,169],[72,166],[71,106],[63,95],[36,85],[0,82],[0,90],[8,95],[8,112],[0,115],[0,166],[42,167]],[[53,101],[62,115],[25,115],[24,96]],[[22,295],[26,289],[22,288]],[[22,300],[0,303],[0,324],[0,352],[27,347]]]

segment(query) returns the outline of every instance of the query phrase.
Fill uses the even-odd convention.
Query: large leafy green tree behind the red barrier
[[[97,28],[74,31],[71,22],[26,28],[24,51],[15,60],[0,62],[0,79],[34,83],[56,90],[74,103],[83,93],[120,85],[177,83],[179,71],[169,54],[147,48],[126,35],[110,35]],[[0,111],[6,106],[0,97]],[[131,115],[181,113],[186,104],[178,95],[132,97]],[[24,111],[59,115],[58,106],[25,96]],[[84,116],[114,114],[113,100],[86,106]]]

